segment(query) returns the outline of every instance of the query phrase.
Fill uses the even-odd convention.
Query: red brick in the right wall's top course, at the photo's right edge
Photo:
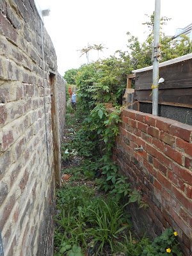
[[[192,132],[191,125],[181,124],[175,121],[173,125],[170,126],[170,133],[182,140],[189,141],[191,132]]]

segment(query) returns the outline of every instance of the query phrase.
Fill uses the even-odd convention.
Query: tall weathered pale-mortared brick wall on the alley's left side
[[[52,255],[54,154],[52,86],[59,139],[65,124],[65,81],[33,0],[0,0],[0,232],[5,256]],[[50,83],[49,72],[55,74]],[[47,138],[44,110],[47,115]],[[61,106],[61,108],[60,108]],[[47,161],[47,141],[49,165]]]

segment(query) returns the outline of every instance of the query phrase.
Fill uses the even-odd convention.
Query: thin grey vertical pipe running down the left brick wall
[[[43,37],[43,28],[42,28],[42,19],[41,22],[41,31],[42,31],[42,61],[43,61],[43,74],[44,74],[44,111],[45,111],[45,134],[46,134],[46,144],[47,144],[47,162],[48,162],[48,170],[50,174],[50,165],[49,165],[49,142],[48,142],[48,134],[47,134],[47,110],[46,110],[46,98],[45,98],[45,63],[44,63],[44,37]]]

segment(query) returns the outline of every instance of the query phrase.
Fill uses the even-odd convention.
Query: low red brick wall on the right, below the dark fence
[[[146,211],[130,205],[134,227],[155,237],[172,226],[186,256],[192,252],[191,136],[191,125],[125,109],[113,154],[149,205]],[[141,145],[143,152],[134,150]]]

